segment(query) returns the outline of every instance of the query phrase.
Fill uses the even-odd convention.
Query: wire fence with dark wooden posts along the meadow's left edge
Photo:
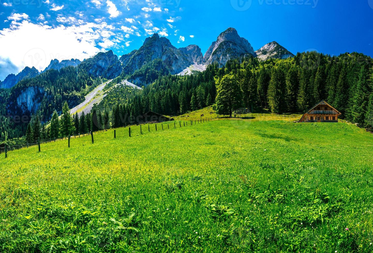
[[[151,131],[165,131],[168,129],[174,129],[174,128],[182,128],[186,126],[193,126],[197,124],[203,124],[205,122],[213,121],[219,119],[219,117],[206,117],[203,119],[195,119],[190,121],[166,121],[166,122],[145,122],[144,124],[139,125],[131,125],[131,126],[124,126],[121,128],[110,128],[110,129],[104,129],[99,131],[91,131],[84,134],[77,134],[77,135],[70,135],[63,138],[48,138],[48,139],[38,139],[35,141],[32,141],[31,143],[26,143],[23,145],[4,145],[3,147],[0,147],[0,154],[5,154],[5,158],[8,157],[9,152],[20,150],[20,149],[28,149],[28,148],[35,148],[37,147],[37,151],[41,152],[43,147],[42,144],[52,143],[51,148],[49,150],[58,150],[60,148],[70,148],[70,140],[76,139],[76,138],[83,138],[83,142],[81,142],[82,145],[85,144],[94,144],[95,138],[94,135],[112,131],[113,132],[113,138],[117,137],[123,137],[128,136],[132,137],[139,134],[144,134],[145,132],[151,132]],[[119,131],[120,129],[128,128],[128,131]],[[68,141],[66,145],[66,140]]]

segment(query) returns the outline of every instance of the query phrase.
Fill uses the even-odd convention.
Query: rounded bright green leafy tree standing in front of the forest
[[[225,75],[220,81],[213,108],[218,114],[232,117],[233,110],[242,106],[242,97],[237,79],[233,75]]]

